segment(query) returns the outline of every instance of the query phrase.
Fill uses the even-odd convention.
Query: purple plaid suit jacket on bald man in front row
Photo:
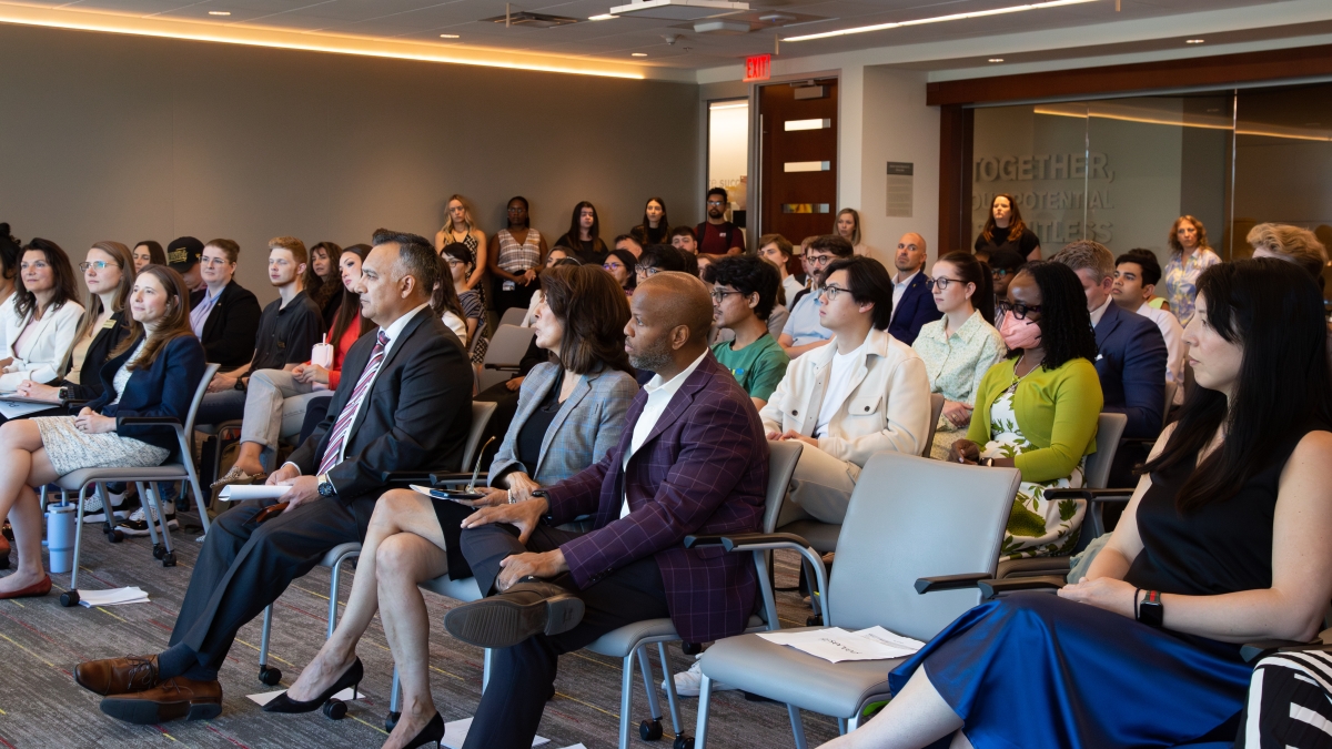
[[[686,642],[739,634],[758,581],[749,554],[685,549],[693,533],[758,532],[767,492],[767,440],[749,393],[713,352],[671,397],[638,452],[625,452],[647,402],[639,390],[619,442],[601,461],[547,489],[547,524],[593,514],[593,530],[561,546],[579,588],[649,554],[657,558],[675,630]],[[619,517],[629,496],[630,513]]]

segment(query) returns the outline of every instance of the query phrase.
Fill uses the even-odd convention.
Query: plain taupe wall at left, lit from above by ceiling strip
[[[430,235],[450,193],[488,235],[523,195],[554,240],[606,239],[661,195],[702,213],[698,87],[0,25],[0,221],[83,259],[97,240],[241,244]]]

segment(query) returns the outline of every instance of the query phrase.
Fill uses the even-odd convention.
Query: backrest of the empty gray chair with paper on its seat
[[[995,573],[1022,474],[900,453],[864,464],[829,582],[832,626],[882,625],[930,640],[980,602],[976,589],[919,594],[915,581]]]

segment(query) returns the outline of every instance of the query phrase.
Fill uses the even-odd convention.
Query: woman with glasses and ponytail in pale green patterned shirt
[[[943,413],[934,432],[930,456],[948,457],[948,448],[971,424],[976,386],[1008,349],[986,312],[972,300],[990,299],[990,268],[970,252],[950,252],[931,269],[927,281],[942,320],[926,323],[911,348],[924,361],[930,392],[943,394]]]

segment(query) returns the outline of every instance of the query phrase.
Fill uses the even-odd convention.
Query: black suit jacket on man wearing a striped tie
[[[378,498],[386,470],[458,470],[472,429],[472,364],[458,340],[425,308],[389,347],[366,402],[352,424],[342,462],[329,470],[344,502]],[[288,458],[310,476],[320,468],[329,432],[352,398],[377,335],[361,336],[342,361],[328,416]]]

